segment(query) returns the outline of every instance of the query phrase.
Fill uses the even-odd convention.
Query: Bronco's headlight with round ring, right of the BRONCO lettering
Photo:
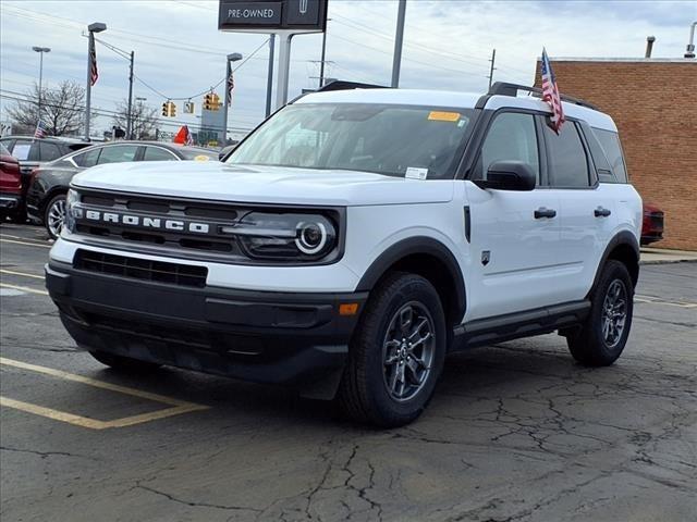
[[[320,214],[250,212],[221,232],[254,259],[316,261],[337,247],[337,227]]]

